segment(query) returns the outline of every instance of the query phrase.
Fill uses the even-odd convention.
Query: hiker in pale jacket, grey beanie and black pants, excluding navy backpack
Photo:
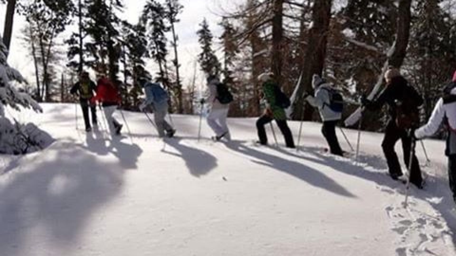
[[[330,91],[334,88],[317,74],[312,77],[312,88],[315,90],[315,97],[308,95],[306,101],[318,108],[320,112],[321,121],[323,122],[321,133],[323,133],[329,145],[330,153],[342,156],[342,148],[336,135],[336,125],[341,119],[342,113],[333,111],[329,107],[331,103]]]

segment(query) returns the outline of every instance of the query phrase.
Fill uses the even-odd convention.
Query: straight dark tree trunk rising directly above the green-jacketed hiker
[[[272,63],[271,69],[275,80],[282,82],[282,39],[283,39],[283,0],[274,0],[274,17],[272,18]]]

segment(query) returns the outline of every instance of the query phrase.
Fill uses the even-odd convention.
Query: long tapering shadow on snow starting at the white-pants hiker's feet
[[[237,151],[241,154],[251,156],[255,159],[252,161],[256,164],[261,164],[272,169],[279,170],[281,172],[290,174],[298,179],[306,181],[307,183],[326,189],[337,195],[356,197],[350,193],[347,189],[339,185],[336,181],[323,174],[321,171],[314,169],[305,164],[285,159],[280,155],[268,154],[264,151],[256,150],[254,147],[244,145],[242,141],[230,141],[225,145],[233,151]]]

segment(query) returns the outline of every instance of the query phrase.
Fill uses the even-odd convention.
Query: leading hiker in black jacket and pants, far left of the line
[[[70,89],[71,94],[79,94],[79,103],[81,104],[81,108],[83,110],[84,123],[87,132],[90,132],[92,130],[88,117],[89,106],[92,112],[92,123],[94,126],[97,125],[96,105],[90,103],[90,99],[93,97],[93,93],[96,91],[97,86],[92,80],[90,80],[88,72],[82,72],[79,76],[79,82],[75,83]]]

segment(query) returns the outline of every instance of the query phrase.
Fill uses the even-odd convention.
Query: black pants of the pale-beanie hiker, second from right
[[[412,139],[407,133],[405,129],[397,127],[395,121],[389,122],[388,126],[385,130],[385,137],[383,138],[382,148],[383,154],[385,154],[386,162],[388,164],[389,173],[392,176],[400,176],[402,175],[402,170],[400,168],[398,156],[394,151],[394,145],[396,142],[401,139],[402,140],[402,150],[404,153],[404,162],[407,168],[410,164],[410,150],[411,150],[411,143]],[[421,170],[420,164],[418,163],[418,159],[415,155],[415,148],[413,149],[412,155],[412,167],[410,170],[410,182],[421,186],[422,178],[421,178]]]

